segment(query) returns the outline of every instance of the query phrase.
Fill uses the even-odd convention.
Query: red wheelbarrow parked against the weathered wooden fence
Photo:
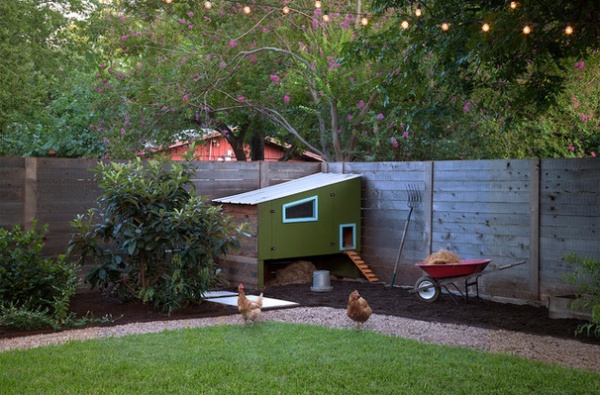
[[[461,296],[466,298],[468,303],[469,287],[472,286],[475,287],[475,297],[479,300],[479,277],[498,270],[522,265],[526,262],[520,261],[504,266],[496,266],[493,269],[484,271],[491,261],[491,259],[465,259],[461,260],[460,263],[441,265],[429,265],[419,262],[416,265],[428,275],[417,280],[414,292],[416,292],[417,297],[423,302],[433,303],[438,300],[441,289],[444,288],[452,299],[457,302],[452,292],[448,289],[448,286],[452,285]],[[456,285],[458,281],[464,281],[464,292]]]

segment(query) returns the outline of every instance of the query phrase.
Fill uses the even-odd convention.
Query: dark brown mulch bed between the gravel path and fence
[[[383,284],[371,284],[359,281],[332,281],[331,292],[312,292],[312,284],[289,284],[270,286],[263,290],[264,295],[277,299],[298,302],[301,306],[329,306],[345,308],[348,295],[358,289],[367,299],[373,311],[378,314],[393,315],[434,321],[478,326],[492,329],[520,331],[537,335],[573,338],[578,325],[584,321],[575,319],[550,319],[548,310],[531,305],[515,305],[491,301],[470,301],[464,299],[455,302],[449,295],[442,296],[434,303],[425,303],[417,299],[414,293],[404,288],[388,288]],[[229,291],[236,291],[234,287]],[[247,293],[256,293],[248,290]],[[152,306],[138,302],[121,303],[111,300],[99,292],[77,294],[71,302],[71,310],[78,316],[103,317],[110,314],[116,320],[101,324],[121,325],[132,322],[160,320],[179,320],[188,318],[214,317],[237,314],[237,308],[217,303],[204,302],[199,306],[190,306],[170,315],[162,313]],[[98,324],[94,324],[98,325]],[[0,338],[11,338],[51,331],[14,331],[0,327]],[[600,344],[597,339],[580,339]]]

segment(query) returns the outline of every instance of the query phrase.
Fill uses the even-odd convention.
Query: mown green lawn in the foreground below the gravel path
[[[0,394],[593,394],[600,375],[370,331],[260,322],[0,353]]]

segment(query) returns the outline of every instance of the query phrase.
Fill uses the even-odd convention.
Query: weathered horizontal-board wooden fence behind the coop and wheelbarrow
[[[0,226],[49,225],[47,254],[64,252],[71,221],[95,205],[96,161],[0,158]],[[408,214],[408,185],[421,192],[397,285],[422,275],[414,263],[447,248],[464,259],[526,265],[480,279],[490,296],[545,301],[572,293],[565,255],[600,258],[600,160],[377,163],[197,162],[198,193],[224,197],[319,171],[362,175],[362,257],[391,278]]]

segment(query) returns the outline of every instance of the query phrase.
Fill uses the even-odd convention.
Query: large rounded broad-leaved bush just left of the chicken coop
[[[99,264],[86,276],[92,288],[173,311],[218,281],[216,260],[239,246],[243,227],[195,194],[187,159],[98,164],[99,208],[72,221],[68,250]]]

